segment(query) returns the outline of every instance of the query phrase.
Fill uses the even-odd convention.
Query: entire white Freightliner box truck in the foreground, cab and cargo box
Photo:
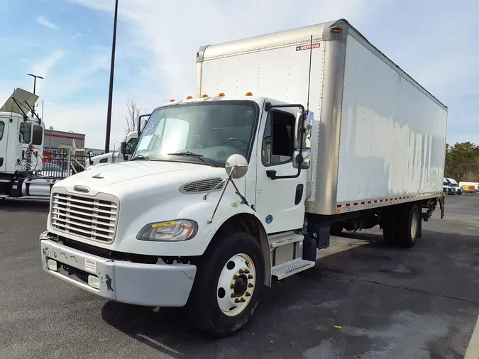
[[[196,96],[155,109],[131,160],[55,184],[43,267],[233,333],[331,232],[416,243],[444,209],[446,118],[345,20],[202,47]]]

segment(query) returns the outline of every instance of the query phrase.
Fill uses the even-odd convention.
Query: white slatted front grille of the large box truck
[[[94,241],[114,240],[118,204],[92,197],[55,193],[52,199],[52,227]]]

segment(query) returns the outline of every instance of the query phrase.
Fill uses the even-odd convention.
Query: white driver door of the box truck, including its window
[[[296,178],[268,177],[295,176],[293,166],[294,125],[299,109],[271,109],[263,113],[258,134],[258,170],[255,209],[267,233],[301,228],[304,223],[304,196],[307,171]]]

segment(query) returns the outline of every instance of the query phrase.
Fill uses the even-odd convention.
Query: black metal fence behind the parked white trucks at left
[[[43,170],[40,173],[55,178],[69,177],[84,171],[87,159],[84,150],[45,148],[42,158]]]

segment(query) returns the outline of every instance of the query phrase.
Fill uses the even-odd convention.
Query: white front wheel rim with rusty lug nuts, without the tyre
[[[248,306],[256,285],[256,269],[246,254],[233,255],[224,265],[216,287],[216,299],[227,316],[237,316]]]

